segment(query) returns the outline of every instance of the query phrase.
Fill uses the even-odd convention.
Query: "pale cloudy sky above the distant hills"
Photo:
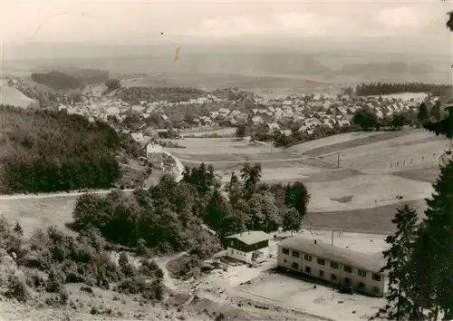
[[[453,6],[425,1],[0,0],[3,44],[234,43],[300,37],[449,39]],[[65,14],[63,14],[65,13]],[[163,34],[161,34],[163,33]]]

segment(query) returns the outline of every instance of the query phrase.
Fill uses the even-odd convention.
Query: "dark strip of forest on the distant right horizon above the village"
[[[352,92],[347,88],[345,92]],[[435,96],[443,97],[451,91],[451,85],[433,83],[361,83],[355,87],[358,96],[371,96],[380,94],[402,92],[426,92]]]

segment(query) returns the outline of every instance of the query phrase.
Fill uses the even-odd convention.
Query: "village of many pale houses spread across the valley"
[[[435,100],[436,98],[429,98]],[[101,119],[110,122],[112,116],[116,122],[111,125],[118,131],[130,133],[136,141],[145,146],[152,138],[167,138],[171,124],[175,132],[184,128],[198,127],[210,129],[220,126],[236,126],[240,123],[268,125],[269,131],[279,130],[289,135],[291,122],[301,124],[300,132],[312,134],[318,126],[334,127],[351,126],[352,117],[357,110],[367,106],[376,112],[378,118],[390,117],[395,112],[416,111],[419,101],[404,101],[396,98],[377,96],[353,97],[350,95],[300,94],[286,98],[265,99],[252,96],[246,101],[228,100],[228,97],[217,97],[207,93],[203,97],[188,98],[185,102],[147,102],[130,104],[112,94],[94,95],[92,92],[82,96],[82,102],[60,104],[58,110],[86,115],[91,121]],[[188,110],[195,113],[191,119],[182,120],[181,114]],[[137,132],[130,132],[121,126],[121,122],[130,112],[140,116],[142,125]],[[161,120],[162,128],[146,126],[146,119],[152,115]]]

